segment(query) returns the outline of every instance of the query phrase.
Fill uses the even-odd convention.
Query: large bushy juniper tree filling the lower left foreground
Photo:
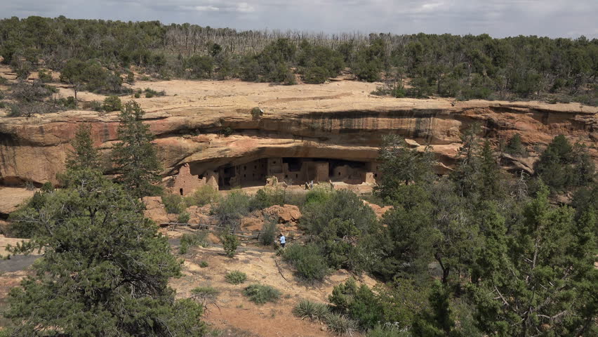
[[[140,201],[100,171],[71,174],[12,218],[33,235],[10,251],[43,257],[8,295],[11,336],[203,336],[203,310],[175,300],[181,265]]]

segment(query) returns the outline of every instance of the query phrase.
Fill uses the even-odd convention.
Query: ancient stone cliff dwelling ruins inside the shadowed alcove
[[[201,171],[201,166],[194,163],[181,166],[169,183],[171,191],[188,195],[205,185],[215,190],[263,186],[267,184],[267,178],[276,178],[288,185],[304,185],[311,181],[373,185],[380,176],[376,162],[343,159],[276,157],[225,164],[205,171]]]

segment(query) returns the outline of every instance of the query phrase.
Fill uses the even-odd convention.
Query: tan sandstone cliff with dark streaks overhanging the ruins
[[[598,108],[579,104],[395,99],[369,95],[375,85],[354,81],[326,85],[269,86],[240,81],[164,81],[139,87],[166,90],[164,98],[139,99],[164,165],[164,175],[193,163],[193,174],[266,157],[371,161],[383,135],[397,133],[413,146],[432,145],[441,166],[454,162],[461,133],[475,121],[484,137],[521,134],[534,154],[564,134],[582,141],[598,159]],[[65,93],[68,94],[68,93]],[[91,94],[90,94],[91,95]],[[85,95],[81,95],[85,99]],[[251,115],[259,106],[265,113]],[[89,123],[106,155],[117,139],[118,114],[69,111],[39,117],[0,117],[0,181],[57,183],[69,140]],[[230,136],[224,136],[227,130]],[[533,161],[533,160],[532,160]],[[528,163],[529,164],[529,163]]]

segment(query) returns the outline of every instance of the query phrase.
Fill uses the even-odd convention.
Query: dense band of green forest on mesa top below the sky
[[[307,83],[322,83],[347,66],[363,81],[409,78],[411,88],[401,95],[414,97],[598,104],[598,40],[585,37],[327,36],[32,16],[0,20],[0,55],[22,78],[42,64],[62,71],[69,62],[84,62],[93,91],[120,91],[119,75],[130,73],[131,65],[162,79],[241,77],[285,84],[295,83],[293,71]]]

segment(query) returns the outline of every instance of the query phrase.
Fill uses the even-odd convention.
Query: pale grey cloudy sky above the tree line
[[[598,0],[0,0],[0,17],[190,22],[310,32],[598,37]]]

